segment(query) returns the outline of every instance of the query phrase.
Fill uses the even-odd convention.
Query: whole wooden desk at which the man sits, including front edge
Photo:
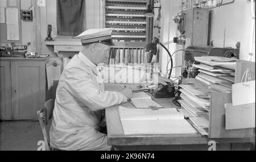
[[[164,107],[176,107],[172,98],[154,99]],[[209,139],[201,134],[190,135],[125,135],[118,113],[118,107],[135,107],[122,103],[105,109],[108,130],[108,144],[116,150],[208,150],[208,142],[214,140],[217,150],[249,150],[254,138]],[[178,107],[176,107],[178,108]]]

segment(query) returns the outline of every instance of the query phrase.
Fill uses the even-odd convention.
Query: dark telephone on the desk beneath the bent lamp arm
[[[158,88],[151,92],[154,98],[170,98],[174,97],[174,93],[175,87],[173,83],[168,83],[168,85],[159,84]]]

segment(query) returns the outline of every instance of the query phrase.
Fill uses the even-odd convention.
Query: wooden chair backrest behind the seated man
[[[46,126],[48,124],[48,119],[51,119],[52,117],[53,108],[54,108],[54,100],[49,99],[46,103],[44,103],[43,109],[37,111],[39,123],[44,135],[44,143],[46,145],[47,151],[52,150],[50,147]]]

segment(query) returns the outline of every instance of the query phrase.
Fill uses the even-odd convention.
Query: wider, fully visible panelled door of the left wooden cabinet
[[[45,102],[45,63],[40,61],[11,62],[14,119],[38,119],[36,111]]]

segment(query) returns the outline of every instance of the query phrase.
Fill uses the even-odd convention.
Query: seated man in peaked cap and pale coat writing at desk
[[[132,97],[130,88],[105,91],[97,68],[109,53],[112,31],[113,28],[93,29],[79,36],[82,51],[68,63],[57,86],[49,134],[53,148],[110,150],[106,134],[100,132],[102,110]]]

